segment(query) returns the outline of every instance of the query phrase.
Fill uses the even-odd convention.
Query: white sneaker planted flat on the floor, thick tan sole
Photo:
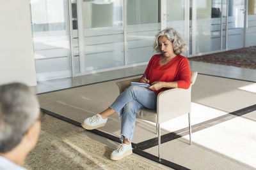
[[[124,143],[122,143],[121,145],[119,145],[116,150],[114,150],[111,155],[110,155],[110,159],[112,160],[120,160],[128,155],[132,154],[132,145],[131,143],[129,145],[125,145]]]

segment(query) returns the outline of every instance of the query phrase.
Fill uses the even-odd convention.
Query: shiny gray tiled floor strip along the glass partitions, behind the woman
[[[239,80],[255,81],[256,69],[246,69],[241,67],[223,66],[218,64],[209,64],[205,62],[189,61],[190,68],[202,74],[210,74],[214,76],[223,76],[227,78],[235,78]],[[115,80],[134,75],[143,74],[147,66],[136,66],[103,73],[95,73],[85,76],[77,76],[74,78],[61,78],[58,80],[38,81],[37,93],[51,92],[54,90],[68,89],[81,85],[99,83],[102,81]]]

